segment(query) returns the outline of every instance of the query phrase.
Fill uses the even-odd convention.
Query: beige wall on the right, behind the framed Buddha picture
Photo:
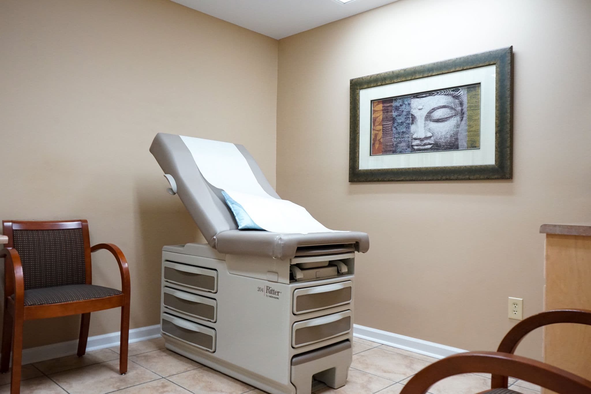
[[[369,233],[355,323],[492,350],[542,309],[542,223],[591,219],[591,2],[401,0],[280,40],[277,188]],[[514,45],[514,179],[348,183],[349,79]],[[540,357],[541,335],[520,351]]]

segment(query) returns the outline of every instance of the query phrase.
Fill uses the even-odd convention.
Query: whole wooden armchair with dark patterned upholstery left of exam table
[[[7,372],[12,344],[11,394],[20,392],[24,320],[82,314],[78,356],[86,353],[90,312],[121,307],[119,372],[127,372],[129,271],[112,243],[90,247],[86,220],[3,221],[4,327],[0,372]],[[119,264],[121,291],[92,284],[90,253],[109,250]]]

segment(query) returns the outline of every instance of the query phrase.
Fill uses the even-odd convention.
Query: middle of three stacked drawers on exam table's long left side
[[[186,291],[164,288],[163,304],[175,311],[183,312],[215,323],[217,315],[217,301],[213,298],[201,297]]]

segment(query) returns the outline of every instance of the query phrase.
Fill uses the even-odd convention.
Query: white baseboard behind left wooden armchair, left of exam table
[[[105,349],[106,347],[119,346],[120,331],[88,337],[86,351]],[[160,324],[149,325],[148,327],[132,328],[129,330],[129,343],[143,341],[160,337]],[[56,357],[70,356],[76,354],[78,340],[52,343],[50,345],[30,347],[22,350],[22,364],[37,363],[44,360],[55,359]]]

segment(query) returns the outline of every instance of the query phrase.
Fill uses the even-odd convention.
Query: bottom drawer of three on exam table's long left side
[[[193,346],[216,351],[216,330],[213,328],[163,313],[162,332]]]

